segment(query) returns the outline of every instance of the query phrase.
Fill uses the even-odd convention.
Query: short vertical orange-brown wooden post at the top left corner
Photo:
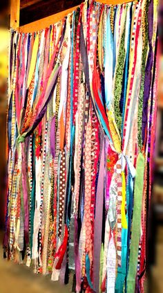
[[[10,0],[10,28],[19,28],[20,0]]]

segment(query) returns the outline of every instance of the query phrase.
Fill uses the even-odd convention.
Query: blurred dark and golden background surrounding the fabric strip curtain
[[[48,2],[48,5],[47,5]],[[54,4],[55,5],[52,5]],[[56,5],[58,3],[59,5]],[[55,14],[81,3],[61,0],[21,0],[20,25]],[[158,80],[157,131],[153,158],[153,192],[148,236],[148,283],[146,293],[163,293],[163,2],[159,8],[160,73]],[[8,105],[8,46],[10,42],[10,1],[0,1],[0,293],[70,292],[71,285],[52,283],[49,276],[33,274],[26,266],[3,259],[3,231],[6,211],[6,112]],[[130,292],[128,292],[130,293]]]

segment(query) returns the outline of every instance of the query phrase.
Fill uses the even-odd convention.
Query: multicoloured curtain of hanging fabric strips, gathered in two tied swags
[[[11,30],[4,256],[75,292],[144,292],[157,0]]]

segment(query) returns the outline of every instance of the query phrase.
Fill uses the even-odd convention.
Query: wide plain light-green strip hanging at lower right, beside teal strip
[[[133,224],[130,245],[130,258],[127,276],[127,292],[135,292],[135,277],[137,274],[137,258],[140,242],[142,195],[144,188],[144,156],[140,153],[137,157],[136,176],[134,187]]]

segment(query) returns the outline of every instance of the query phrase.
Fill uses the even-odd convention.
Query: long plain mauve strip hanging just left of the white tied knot
[[[95,204],[95,232],[93,254],[93,287],[99,292],[100,251],[102,245],[102,215],[104,203],[104,136],[102,139],[102,154],[99,164],[99,177]]]

